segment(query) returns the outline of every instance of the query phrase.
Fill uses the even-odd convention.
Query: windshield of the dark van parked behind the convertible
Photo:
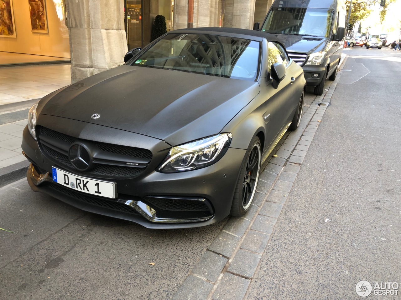
[[[333,10],[327,8],[275,7],[267,15],[262,31],[327,38],[332,20]]]

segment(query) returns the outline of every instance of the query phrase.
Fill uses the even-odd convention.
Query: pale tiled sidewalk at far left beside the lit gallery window
[[[70,69],[69,63],[0,68],[0,186],[24,176],[28,161],[21,142],[28,110],[71,84]]]

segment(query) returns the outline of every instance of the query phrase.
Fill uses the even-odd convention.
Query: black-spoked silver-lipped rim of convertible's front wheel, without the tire
[[[247,210],[255,196],[257,182],[260,171],[260,145],[255,144],[249,155],[247,166],[245,168],[244,182],[242,186],[242,208]]]

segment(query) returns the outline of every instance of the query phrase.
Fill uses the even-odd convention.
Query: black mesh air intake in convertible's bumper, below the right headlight
[[[150,198],[146,197],[146,201],[150,206],[158,207],[162,210],[175,211],[209,211],[209,208],[203,201],[191,199],[170,199],[170,198]]]

